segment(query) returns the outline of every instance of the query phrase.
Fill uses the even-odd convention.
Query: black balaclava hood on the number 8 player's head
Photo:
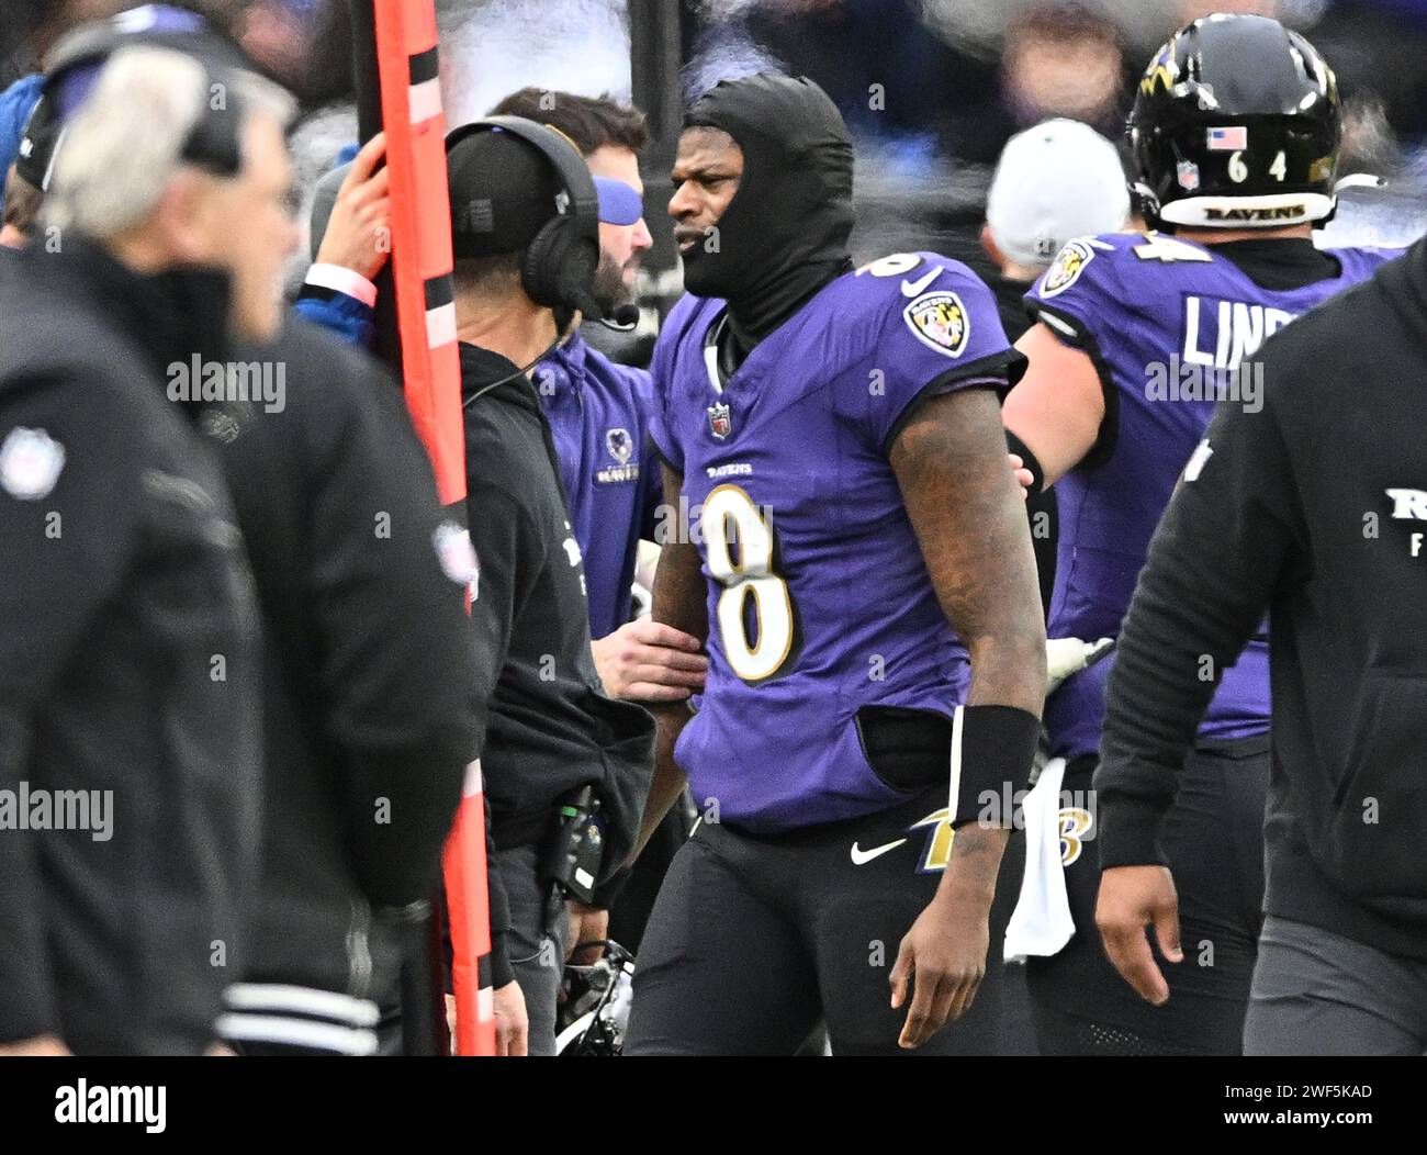
[[[718,250],[684,254],[684,284],[729,303],[746,351],[852,267],[852,140],[828,94],[806,77],[746,76],[699,97],[685,128],[722,128],[743,176],[718,221]]]

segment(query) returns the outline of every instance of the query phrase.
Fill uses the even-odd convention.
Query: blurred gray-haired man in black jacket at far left
[[[49,190],[59,251],[23,253],[0,310],[0,1054],[198,1054],[245,945],[254,591],[166,393],[227,358],[230,317],[275,330],[294,234],[278,117],[210,113],[194,71],[68,77],[93,91]]]

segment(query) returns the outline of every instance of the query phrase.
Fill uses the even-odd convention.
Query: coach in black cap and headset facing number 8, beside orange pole
[[[491,932],[502,1048],[555,1052],[565,902],[604,905],[649,785],[654,721],[608,698],[589,650],[579,547],[529,370],[575,311],[598,317],[594,181],[558,133],[518,117],[447,140],[471,617],[504,655],[481,754],[495,861]]]

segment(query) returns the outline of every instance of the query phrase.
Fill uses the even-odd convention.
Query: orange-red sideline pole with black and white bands
[[[465,525],[465,433],[451,287],[445,116],[432,0],[374,0],[381,118],[387,133],[391,264],[407,407],[435,471],[441,504]],[[494,1055],[491,917],[479,762],[447,841],[457,1054]]]

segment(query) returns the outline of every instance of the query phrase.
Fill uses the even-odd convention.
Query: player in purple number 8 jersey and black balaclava
[[[997,403],[1020,358],[958,261],[853,268],[852,146],[808,80],[712,89],[674,186],[654,615],[709,672],[695,712],[659,707],[645,828],[685,777],[702,821],[626,1054],[791,1054],[819,1021],[833,1054],[990,1054],[1045,695]]]

